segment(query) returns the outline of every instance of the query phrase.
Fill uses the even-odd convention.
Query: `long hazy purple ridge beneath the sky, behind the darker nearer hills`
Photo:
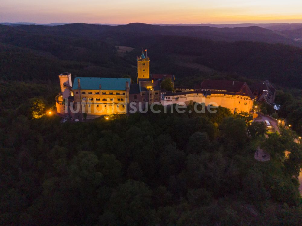
[[[301,43],[295,42],[291,37],[256,26],[217,28],[209,26],[159,26],[141,23],[118,26],[77,23],[53,27],[41,25],[22,25],[15,27],[15,29],[18,31],[38,34],[112,39],[113,41],[118,42],[131,39],[133,36],[175,35],[198,37],[215,41],[245,40],[301,46]],[[120,45],[120,43],[115,44]]]

